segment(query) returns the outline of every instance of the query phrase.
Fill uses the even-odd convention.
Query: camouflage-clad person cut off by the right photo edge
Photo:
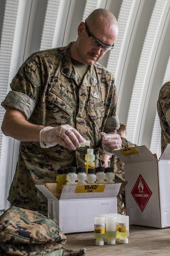
[[[160,90],[157,111],[161,124],[161,151],[170,143],[170,81]]]

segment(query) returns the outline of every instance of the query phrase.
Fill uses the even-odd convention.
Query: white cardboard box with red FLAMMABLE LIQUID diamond
[[[115,154],[125,163],[129,224],[170,227],[170,144],[159,160],[145,145]]]

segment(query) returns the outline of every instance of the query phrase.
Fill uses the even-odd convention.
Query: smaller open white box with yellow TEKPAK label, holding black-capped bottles
[[[60,198],[56,183],[36,187],[48,199],[48,217],[63,233],[74,233],[93,231],[94,217],[117,212],[117,195],[126,183],[64,185]]]

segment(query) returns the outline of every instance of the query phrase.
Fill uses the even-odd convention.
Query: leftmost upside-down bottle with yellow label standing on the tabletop
[[[95,245],[104,245],[105,237],[105,218],[94,218],[94,238],[96,239]]]

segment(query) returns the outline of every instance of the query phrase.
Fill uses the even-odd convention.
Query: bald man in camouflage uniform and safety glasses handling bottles
[[[13,78],[2,102],[2,131],[21,141],[11,205],[47,215],[47,199],[35,184],[56,182],[59,168],[84,166],[84,139],[94,154],[101,143],[110,152],[120,148],[119,135],[104,133],[119,128],[114,77],[97,62],[117,34],[115,16],[97,9],[80,23],[76,42],[31,54]]]

